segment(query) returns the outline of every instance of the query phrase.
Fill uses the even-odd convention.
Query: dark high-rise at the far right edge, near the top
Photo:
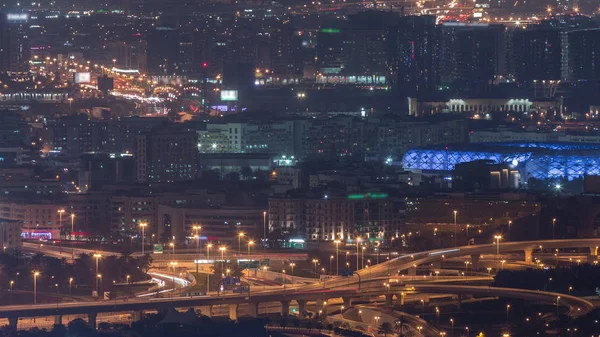
[[[600,80],[600,28],[562,34],[562,79]]]

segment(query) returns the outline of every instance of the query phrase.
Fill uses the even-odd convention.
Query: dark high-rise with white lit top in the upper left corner
[[[28,14],[0,13],[0,72],[29,70]]]

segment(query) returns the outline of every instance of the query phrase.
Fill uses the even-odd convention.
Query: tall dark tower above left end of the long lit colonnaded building
[[[439,82],[435,16],[403,16],[388,32],[390,79],[406,95],[431,92]]]

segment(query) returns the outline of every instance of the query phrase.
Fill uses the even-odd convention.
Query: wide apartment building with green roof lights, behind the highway
[[[269,231],[298,232],[309,241],[384,241],[402,231],[404,201],[386,193],[269,198]]]

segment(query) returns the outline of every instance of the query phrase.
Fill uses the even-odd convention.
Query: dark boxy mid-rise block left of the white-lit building
[[[175,182],[196,178],[196,132],[162,127],[137,137],[137,181]]]

